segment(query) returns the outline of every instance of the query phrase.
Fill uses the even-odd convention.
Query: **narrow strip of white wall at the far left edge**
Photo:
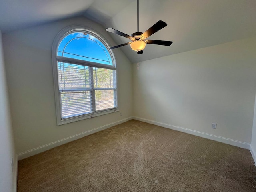
[[[12,134],[8,90],[6,84],[4,56],[2,49],[2,33],[0,30],[0,191],[14,190],[16,152]],[[12,172],[11,158],[14,158],[14,172]]]

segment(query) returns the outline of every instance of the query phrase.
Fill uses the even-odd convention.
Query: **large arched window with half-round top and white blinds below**
[[[63,33],[52,52],[57,124],[115,112],[116,64],[106,41],[87,29]]]

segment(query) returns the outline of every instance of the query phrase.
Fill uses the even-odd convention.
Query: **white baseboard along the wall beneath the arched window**
[[[71,141],[74,141],[74,140],[77,140],[77,139],[80,139],[80,138],[82,138],[84,136],[87,136],[87,135],[96,133],[98,131],[110,128],[112,126],[124,123],[124,122],[126,122],[128,120],[132,120],[132,117],[125,118],[125,119],[122,119],[122,120],[119,120],[119,121],[116,121],[116,122],[113,122],[113,123],[110,123],[110,124],[107,124],[107,125],[104,125],[104,126],[100,126],[100,127],[94,128],[92,130],[88,130],[88,131],[82,132],[80,134],[76,134],[76,135],[70,136],[68,138],[64,138],[64,139],[58,140],[56,142],[52,142],[52,143],[49,143],[49,144],[46,144],[46,145],[43,145],[43,146],[31,149],[31,150],[28,150],[28,151],[22,152],[22,153],[18,154],[18,160],[22,160],[24,158],[36,155],[38,153],[44,152],[44,151],[52,149],[54,147],[63,145],[65,143],[68,143],[68,142],[71,142]]]

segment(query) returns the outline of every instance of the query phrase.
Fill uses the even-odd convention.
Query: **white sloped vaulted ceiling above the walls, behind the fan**
[[[0,28],[17,30],[54,20],[83,15],[126,34],[137,32],[136,0],[2,0]],[[149,60],[188,50],[256,36],[256,0],[140,0],[140,32],[158,20],[168,24],[149,39],[169,40],[171,46],[147,44],[139,60]],[[111,34],[116,44],[129,42]],[[121,48],[131,62],[137,54]]]

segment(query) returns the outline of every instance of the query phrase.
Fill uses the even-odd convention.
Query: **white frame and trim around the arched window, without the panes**
[[[113,65],[106,65],[106,64],[100,64],[96,62],[91,62],[91,61],[82,61],[74,58],[66,58],[62,56],[57,56],[57,49],[58,46],[60,45],[60,42],[69,34],[72,34],[74,32],[84,32],[88,34],[92,34],[98,40],[102,42],[104,46],[109,51],[109,54],[112,59],[112,64]],[[117,112],[118,110],[118,86],[117,86],[117,67],[116,67],[116,60],[114,57],[114,53],[112,50],[110,50],[108,47],[109,44],[108,42],[102,37],[102,35],[99,32],[95,32],[93,29],[88,28],[86,26],[81,26],[81,25],[73,25],[73,26],[68,26],[64,29],[62,29],[57,36],[54,38],[54,42],[52,44],[52,70],[53,70],[53,79],[54,79],[54,93],[55,93],[55,108],[56,108],[56,118],[57,118],[57,125],[62,125],[62,124],[67,124],[71,122],[76,122],[79,120],[84,120],[88,118],[93,118],[96,116],[101,116],[105,114],[110,114],[113,112]],[[101,110],[98,112],[92,112],[89,114],[84,114],[84,115],[78,115],[70,118],[61,118],[61,99],[60,99],[60,90],[59,90],[59,79],[58,79],[58,62],[68,62],[70,61],[72,64],[78,64],[78,65],[83,65],[83,66],[89,66],[89,67],[99,67],[99,68],[107,68],[111,70],[116,70],[116,107],[107,109],[107,110]],[[93,98],[94,104],[95,104],[95,98]]]

